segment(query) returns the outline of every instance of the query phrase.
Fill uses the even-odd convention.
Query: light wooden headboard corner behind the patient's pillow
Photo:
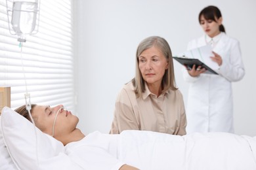
[[[3,107],[11,107],[11,88],[10,87],[0,87],[0,114]]]

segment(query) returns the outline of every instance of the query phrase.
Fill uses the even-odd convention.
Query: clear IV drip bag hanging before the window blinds
[[[9,31],[12,35],[18,35],[18,41],[26,42],[26,35],[38,31],[39,0],[6,1]]]

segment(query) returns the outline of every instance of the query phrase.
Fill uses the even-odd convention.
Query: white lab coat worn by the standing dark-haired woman
[[[234,133],[232,84],[245,75],[236,39],[221,33],[221,38],[213,51],[223,59],[222,65],[215,70],[219,75],[202,73],[192,77],[184,69],[184,80],[190,83],[186,105],[187,133],[223,131]],[[205,36],[188,43],[188,50],[206,45]]]

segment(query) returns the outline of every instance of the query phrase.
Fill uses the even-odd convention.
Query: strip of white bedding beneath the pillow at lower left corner
[[[0,169],[1,170],[14,170],[17,169],[14,165],[11,156],[3,142],[2,128],[1,128],[1,116],[0,116]]]

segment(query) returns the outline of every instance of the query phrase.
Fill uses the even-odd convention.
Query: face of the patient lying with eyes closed
[[[33,107],[32,116],[35,121],[35,126],[44,133],[52,135],[54,119],[59,111],[54,126],[54,137],[72,132],[77,126],[78,118],[73,115],[72,112],[60,109],[62,107],[62,105],[56,107],[36,105]]]

